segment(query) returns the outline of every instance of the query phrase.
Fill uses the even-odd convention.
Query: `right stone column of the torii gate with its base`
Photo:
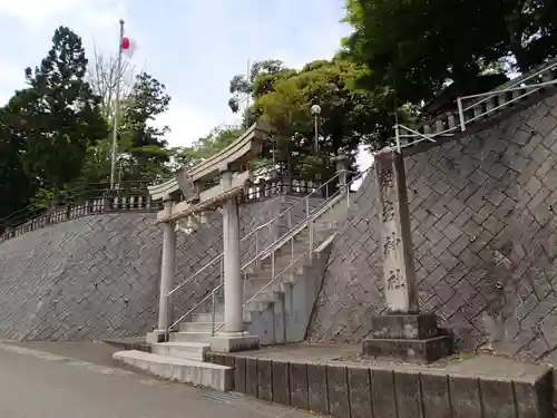
[[[223,189],[232,187],[232,172],[221,173]],[[240,215],[236,196],[223,205],[224,330],[211,340],[211,350],[233,352],[260,347],[260,339],[244,331],[244,292],[240,253]]]

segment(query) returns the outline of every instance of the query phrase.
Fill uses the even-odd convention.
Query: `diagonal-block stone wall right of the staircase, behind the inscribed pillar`
[[[557,361],[557,95],[404,158],[421,308],[460,349]],[[356,342],[384,309],[370,172],[333,243],[311,341]]]

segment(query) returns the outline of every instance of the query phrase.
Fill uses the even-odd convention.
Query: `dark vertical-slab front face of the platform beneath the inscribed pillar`
[[[549,368],[501,378],[217,353],[206,361],[234,367],[237,392],[338,418],[553,416]]]

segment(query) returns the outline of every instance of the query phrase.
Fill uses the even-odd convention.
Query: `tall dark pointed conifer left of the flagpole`
[[[85,79],[87,64],[81,38],[59,27],[40,66],[26,69],[29,88],[10,105],[21,120],[12,129],[26,138],[22,161],[28,176],[53,201],[80,175],[88,147],[107,134],[99,97]]]

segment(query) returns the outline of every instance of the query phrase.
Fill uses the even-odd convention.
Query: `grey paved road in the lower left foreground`
[[[310,417],[237,393],[169,383],[92,361],[47,352],[40,346],[0,343],[0,417]]]

